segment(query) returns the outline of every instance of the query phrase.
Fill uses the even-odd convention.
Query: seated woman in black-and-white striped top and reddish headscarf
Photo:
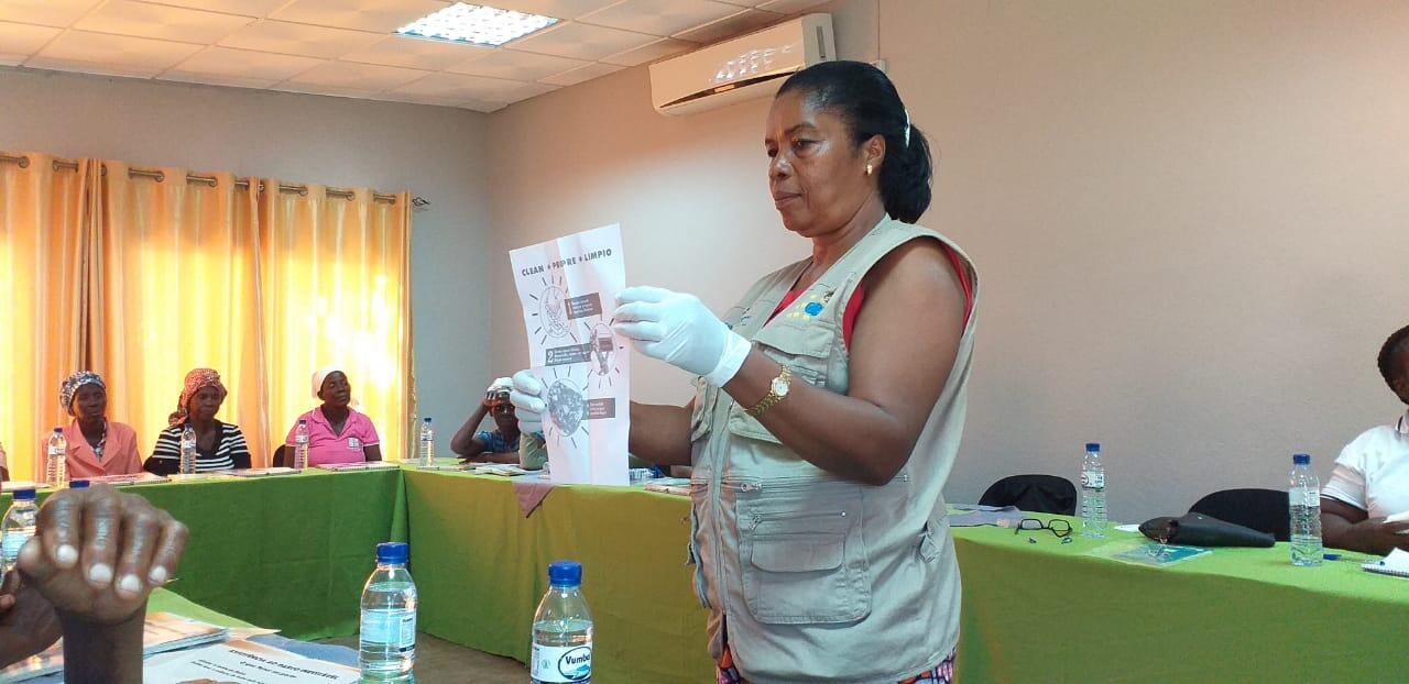
[[[249,446],[240,426],[216,419],[225,401],[225,386],[220,373],[196,369],[186,373],[186,387],[176,401],[176,412],[169,426],[156,436],[147,471],[172,474],[180,471],[180,433],[190,425],[196,431],[196,471],[211,473],[249,467]]]

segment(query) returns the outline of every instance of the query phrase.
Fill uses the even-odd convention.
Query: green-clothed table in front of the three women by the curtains
[[[172,590],[293,639],[355,635],[376,545],[406,539],[404,490],[395,467],[123,491],[145,497],[190,528]],[[0,505],[10,505],[8,494]]]

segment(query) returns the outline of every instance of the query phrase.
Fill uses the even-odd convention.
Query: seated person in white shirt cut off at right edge
[[[1379,348],[1379,374],[1409,404],[1409,325]],[[1367,553],[1409,549],[1409,521],[1385,522],[1409,511],[1409,412],[1370,428],[1346,445],[1322,488],[1326,546]]]

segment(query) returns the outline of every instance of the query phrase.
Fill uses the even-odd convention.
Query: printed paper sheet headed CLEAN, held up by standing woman
[[[612,329],[626,287],[621,227],[607,225],[509,252],[542,381],[552,481],[628,484],[630,353]]]

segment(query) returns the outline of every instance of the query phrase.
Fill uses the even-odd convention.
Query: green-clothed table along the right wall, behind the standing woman
[[[603,681],[712,681],[706,612],[683,564],[683,497],[559,487],[526,519],[503,479],[410,469],[404,477],[421,629],[527,660],[547,564],[571,557],[583,563]],[[954,538],[962,683],[1299,681],[1310,673],[1402,681],[1409,670],[1409,647],[1396,638],[1409,619],[1409,584],[1357,563],[1292,567],[1282,543],[1148,569],[1088,555],[1105,542],[1062,545],[1050,532],[955,528]]]

